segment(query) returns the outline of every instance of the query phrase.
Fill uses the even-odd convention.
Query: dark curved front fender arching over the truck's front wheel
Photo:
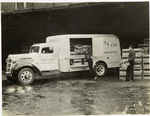
[[[16,67],[14,67],[13,69],[13,75],[16,76],[18,74],[18,72],[22,69],[22,68],[31,68],[34,72],[38,73],[39,75],[41,75],[40,70],[33,64],[28,63],[28,62],[21,62],[18,63],[18,65]]]

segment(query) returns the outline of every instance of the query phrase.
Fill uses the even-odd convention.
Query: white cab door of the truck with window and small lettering
[[[41,49],[41,71],[58,69],[57,50],[54,46],[43,47]]]

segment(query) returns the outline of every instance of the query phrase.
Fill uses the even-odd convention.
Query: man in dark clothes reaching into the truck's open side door
[[[90,74],[96,80],[97,78],[95,77],[95,71],[93,69],[93,60],[91,58],[90,48],[86,48],[84,54],[85,54],[86,61],[88,62],[89,65]]]

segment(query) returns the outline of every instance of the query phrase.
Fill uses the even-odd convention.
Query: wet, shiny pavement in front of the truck
[[[4,77],[4,75],[3,75]],[[2,111],[13,115],[149,114],[149,80],[63,76],[21,86],[2,80]]]

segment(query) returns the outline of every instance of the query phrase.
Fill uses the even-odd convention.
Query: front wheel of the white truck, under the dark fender
[[[34,72],[30,68],[23,68],[18,73],[18,81],[22,85],[29,85],[34,81]]]

